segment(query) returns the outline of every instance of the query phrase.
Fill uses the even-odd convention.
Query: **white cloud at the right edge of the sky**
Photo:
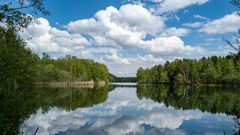
[[[199,31],[208,34],[224,34],[228,32],[236,32],[238,28],[240,28],[239,22],[240,17],[236,12],[234,12],[220,19],[207,22],[201,29],[199,29]]]

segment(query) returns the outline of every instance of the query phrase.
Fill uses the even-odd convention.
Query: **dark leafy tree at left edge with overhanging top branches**
[[[0,5],[0,85],[29,84],[33,81],[38,57],[25,48],[17,31],[31,22],[27,13],[48,15],[43,0],[17,0]]]

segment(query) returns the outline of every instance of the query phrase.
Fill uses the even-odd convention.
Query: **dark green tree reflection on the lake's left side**
[[[39,108],[47,112],[54,106],[64,110],[91,107],[106,101],[108,92],[113,89],[113,86],[94,89],[31,88],[14,91],[0,88],[0,134],[19,134],[22,122]]]

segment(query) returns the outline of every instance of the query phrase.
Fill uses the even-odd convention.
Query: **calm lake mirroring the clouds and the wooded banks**
[[[0,134],[239,134],[236,88],[131,83],[0,93]]]

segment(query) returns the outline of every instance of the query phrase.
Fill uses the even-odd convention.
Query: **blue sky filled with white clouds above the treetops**
[[[176,58],[225,56],[240,28],[229,0],[45,0],[49,16],[22,30],[27,47],[53,58],[93,59],[117,76],[136,76]]]

